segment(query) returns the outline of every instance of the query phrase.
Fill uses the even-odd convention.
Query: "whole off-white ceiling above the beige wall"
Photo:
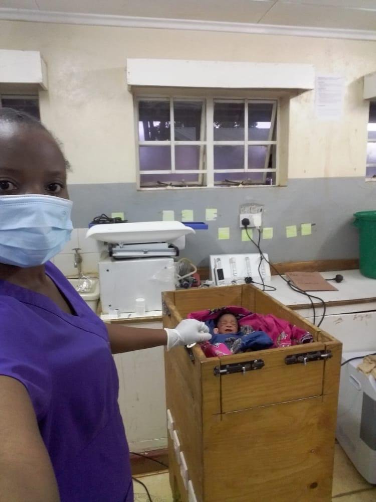
[[[85,24],[118,16],[119,22],[151,18],[376,32],[376,0],[0,0],[0,19],[74,22],[72,15],[88,15]]]

